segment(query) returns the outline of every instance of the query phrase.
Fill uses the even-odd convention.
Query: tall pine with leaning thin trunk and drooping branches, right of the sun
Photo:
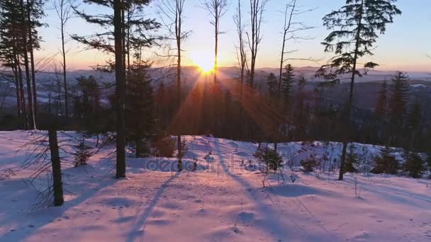
[[[349,127],[353,104],[354,80],[363,73],[357,68],[361,57],[372,55],[372,47],[378,33],[386,32],[386,24],[393,23],[393,17],[401,11],[393,4],[396,0],[347,0],[346,5],[332,11],[323,18],[323,25],[332,30],[322,44],[325,52],[334,52],[330,64],[325,64],[316,76],[323,76],[332,83],[340,81],[340,76],[350,75],[349,100],[347,101],[345,125]],[[335,29],[335,30],[334,30]],[[364,69],[378,66],[374,62],[364,64]],[[347,132],[349,132],[347,130]],[[340,177],[342,180],[349,137],[343,141]]]

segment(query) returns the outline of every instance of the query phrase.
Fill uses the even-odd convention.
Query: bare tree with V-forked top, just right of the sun
[[[260,28],[262,25],[263,14],[265,6],[269,0],[250,0],[250,23],[251,33],[247,33],[248,45],[251,52],[250,63],[250,87],[253,88],[254,83],[254,69],[256,67],[257,50],[259,43],[262,41],[262,34]],[[251,36],[250,36],[251,35]]]

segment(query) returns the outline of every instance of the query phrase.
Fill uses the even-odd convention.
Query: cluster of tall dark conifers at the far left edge
[[[16,117],[20,128],[32,129],[38,116],[35,80],[35,50],[40,49],[38,28],[44,24],[43,0],[0,1],[0,59],[11,70],[9,79],[16,90]]]

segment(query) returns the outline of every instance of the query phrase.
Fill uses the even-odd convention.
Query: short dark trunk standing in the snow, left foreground
[[[60,163],[60,154],[58,152],[57,131],[48,130],[50,143],[51,166],[52,166],[52,188],[54,191],[54,205],[61,206],[63,199],[62,168]]]

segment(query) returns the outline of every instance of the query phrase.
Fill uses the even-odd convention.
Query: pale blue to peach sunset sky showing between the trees
[[[149,16],[155,16],[157,1],[147,8]],[[200,6],[200,0],[186,0],[186,19],[184,29],[192,30],[190,37],[184,42],[184,65],[205,64],[212,62],[213,59],[213,26],[209,23],[208,13]],[[270,0],[267,5],[267,11],[264,15],[262,25],[263,40],[260,45],[257,67],[276,67],[279,62],[281,51],[281,30],[284,23],[284,6],[289,1]],[[323,58],[322,62],[292,62],[294,66],[319,66],[328,61],[330,55],[323,52],[323,46],[320,42],[328,35],[329,30],[322,26],[322,18],[326,13],[340,8],[345,0],[298,0],[302,10],[308,8],[317,8],[311,13],[304,14],[301,19],[307,25],[313,25],[316,28],[303,33],[304,36],[314,37],[314,40],[303,40],[302,42],[289,42],[289,49],[298,49],[298,52],[292,57],[313,57],[315,59]],[[235,66],[235,44],[237,36],[235,35],[235,25],[233,15],[235,14],[237,1],[230,3],[228,12],[223,16],[220,30],[225,34],[220,36],[219,42],[219,63],[220,66]],[[242,0],[244,17],[249,20],[248,0]],[[397,3],[398,8],[403,11],[402,16],[397,16],[395,23],[388,25],[386,35],[381,36],[374,51],[374,62],[381,64],[379,69],[403,71],[427,71],[431,67],[431,59],[426,54],[431,54],[431,1],[428,0],[400,0]],[[50,6],[49,6],[50,7]],[[51,8],[51,7],[50,7]],[[83,8],[83,6],[81,6]],[[87,12],[106,11],[106,9],[97,9],[94,6],[86,8]],[[45,22],[49,27],[42,28],[44,42],[43,50],[38,52],[38,57],[52,56],[58,52],[60,47],[60,32],[58,30],[58,20],[54,11],[47,11]],[[420,23],[420,24],[418,24]],[[88,25],[80,19],[72,19],[67,26],[67,33],[88,35],[95,33],[97,28],[94,25]],[[160,31],[162,33],[162,30]],[[107,57],[100,52],[82,51],[82,46],[76,42],[69,42],[69,67],[70,69],[89,69],[90,65],[103,63]]]

